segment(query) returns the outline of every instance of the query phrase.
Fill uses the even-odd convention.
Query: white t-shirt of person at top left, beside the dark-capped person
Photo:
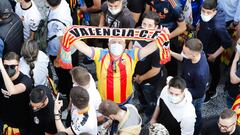
[[[19,2],[17,2],[15,7],[16,14],[21,18],[23,22],[23,34],[24,34],[24,41],[29,39],[30,32],[36,31],[41,20],[41,14],[38,11],[37,6],[33,1],[32,5],[27,8],[23,9]]]

